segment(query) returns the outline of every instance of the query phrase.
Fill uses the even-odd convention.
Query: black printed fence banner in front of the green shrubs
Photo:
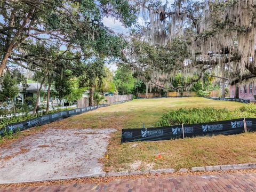
[[[122,143],[132,141],[159,141],[192,138],[206,135],[232,135],[256,131],[256,118],[239,118],[227,121],[175,125],[146,129],[122,129]]]

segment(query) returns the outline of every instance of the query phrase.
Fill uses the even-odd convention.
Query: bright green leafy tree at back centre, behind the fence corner
[[[129,67],[118,67],[114,79],[119,93],[123,95],[132,93],[136,80],[133,77],[132,70]]]

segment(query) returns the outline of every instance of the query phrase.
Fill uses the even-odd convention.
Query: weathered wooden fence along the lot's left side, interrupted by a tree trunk
[[[112,105],[114,102],[118,101],[127,101],[132,99],[132,94],[129,95],[113,95],[113,96],[106,96],[104,102],[102,104]],[[77,108],[83,108],[89,106],[89,98],[82,98],[77,100]]]

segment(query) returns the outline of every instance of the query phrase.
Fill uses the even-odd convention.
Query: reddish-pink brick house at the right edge
[[[248,99],[254,100],[256,95],[256,79],[250,79],[250,81],[242,81],[235,85],[230,85],[230,98]]]

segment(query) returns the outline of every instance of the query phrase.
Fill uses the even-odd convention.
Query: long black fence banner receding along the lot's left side
[[[126,101],[131,101],[131,99],[126,100]],[[123,103],[123,102],[126,102],[126,101],[117,101],[114,104]],[[47,124],[47,123],[51,123],[51,122],[54,122],[54,121],[57,121],[57,120],[67,118],[67,117],[72,117],[72,116],[75,116],[75,115],[79,115],[79,114],[85,113],[87,111],[94,110],[94,109],[97,109],[97,108],[100,108],[100,107],[106,107],[106,106],[108,106],[108,105],[101,104],[101,105],[89,106],[89,107],[84,107],[84,108],[77,108],[77,109],[59,111],[58,113],[43,115],[41,117],[28,119],[26,121],[9,124],[5,128],[0,130],[0,135],[4,136],[5,133],[9,133],[10,131],[15,133],[17,131],[26,130],[26,129],[29,129],[29,128],[34,127],[34,126],[44,125],[44,124]]]

